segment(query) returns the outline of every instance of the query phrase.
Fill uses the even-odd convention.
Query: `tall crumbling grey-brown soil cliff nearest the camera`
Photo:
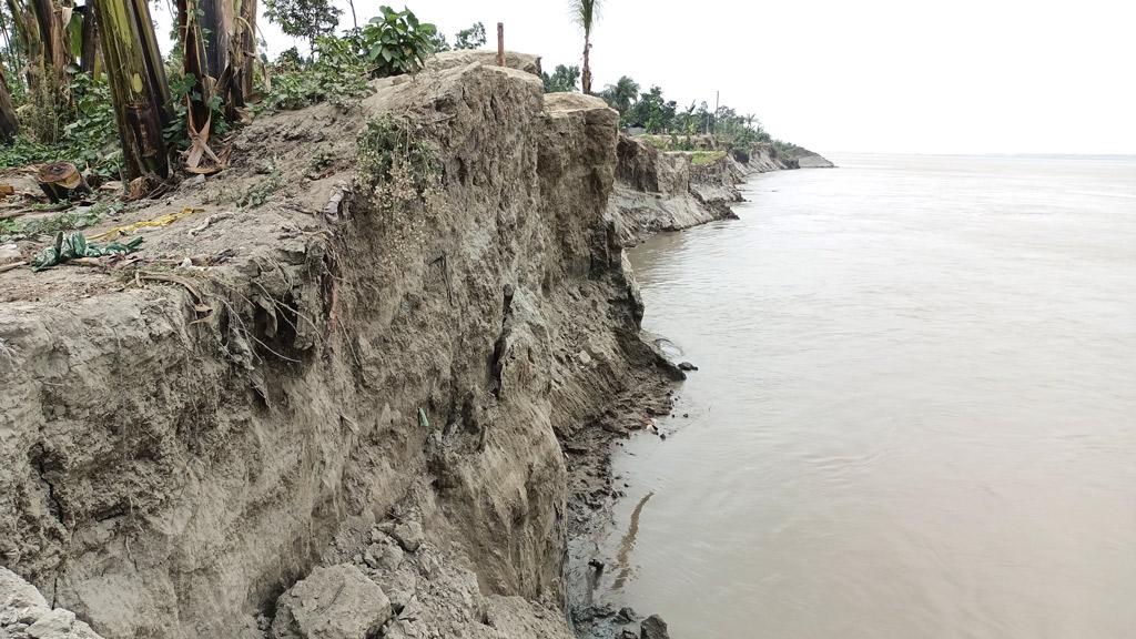
[[[358,179],[384,117],[428,179]],[[0,565],[107,639],[307,636],[320,588],[368,633],[567,636],[557,435],[660,366],[616,127],[457,60],[258,121],[115,222],[189,209],[137,264],[3,275]]]

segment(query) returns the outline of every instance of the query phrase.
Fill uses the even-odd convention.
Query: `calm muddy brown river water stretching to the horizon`
[[[1136,637],[1136,159],[833,159],[632,251],[701,370],[617,449],[602,597],[676,639]]]

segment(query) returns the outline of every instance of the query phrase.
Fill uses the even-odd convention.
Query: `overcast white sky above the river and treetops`
[[[384,3],[356,0],[360,24]],[[503,22],[546,70],[579,64],[567,5],[408,3],[451,40],[483,22],[495,45]],[[260,22],[272,53],[293,44]],[[629,75],[711,106],[720,90],[819,152],[1136,153],[1134,28],[1131,0],[605,0],[592,60],[596,86]]]

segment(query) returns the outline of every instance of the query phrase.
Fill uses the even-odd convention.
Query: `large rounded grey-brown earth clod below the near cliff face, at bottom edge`
[[[359,569],[317,567],[276,601],[273,639],[361,639],[391,619],[383,589]]]

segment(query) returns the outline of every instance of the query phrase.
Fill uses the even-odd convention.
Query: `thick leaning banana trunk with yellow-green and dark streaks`
[[[94,0],[127,179],[169,176],[169,85],[147,0]]]

